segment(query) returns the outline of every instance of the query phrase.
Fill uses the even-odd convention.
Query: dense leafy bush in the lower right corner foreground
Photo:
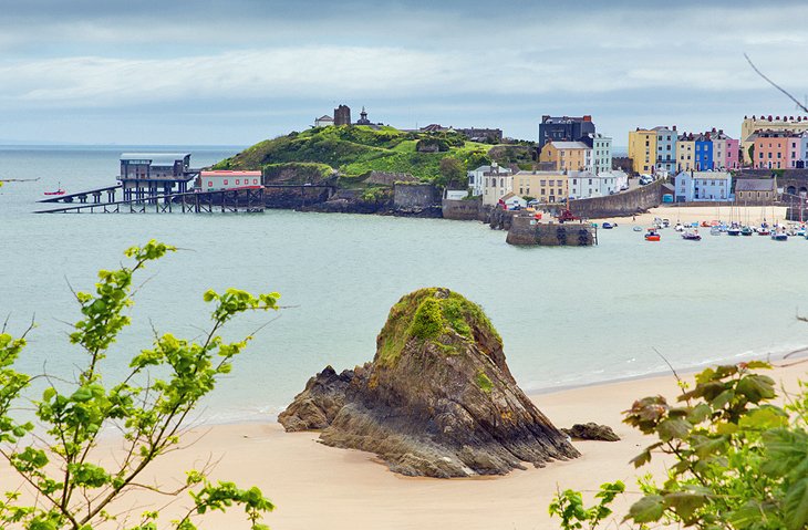
[[[806,387],[786,407],[775,382],[755,373],[763,362],[707,368],[683,386],[678,404],[645,397],[625,412],[625,423],[659,441],[654,453],[675,461],[666,480],[645,482],[626,519],[638,524],[670,520],[704,530],[799,530],[808,526],[808,397]]]

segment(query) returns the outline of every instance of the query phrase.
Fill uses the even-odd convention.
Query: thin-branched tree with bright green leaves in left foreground
[[[138,484],[143,471],[159,457],[178,447],[188,415],[199,401],[214,391],[228,374],[232,362],[251,339],[225,343],[217,334],[234,316],[250,310],[278,310],[278,293],[252,294],[237,289],[224,293],[209,290],[204,300],[214,304],[213,324],[201,342],[177,339],[170,333],[156,336],[151,349],[132,356],[130,373],[108,384],[102,367],[117,334],[130,324],[124,314],[132,305],[132,281],[148,261],[162,258],[174,247],[149,241],[125,254],[134,264],[118,270],[99,271],[95,294],[76,292],[82,320],[73,325],[70,342],[86,354],[76,381],[48,382],[41,399],[32,399],[44,433],[30,422],[14,416],[18,404],[34,377],[19,373],[13,363],[25,346],[29,328],[19,337],[0,332],[0,455],[17,471],[30,490],[24,498],[19,489],[8,491],[0,501],[0,527],[32,530],[91,530],[115,519],[114,501],[127,491],[152,489]],[[115,426],[123,433],[126,450],[112,467],[95,457],[99,433]],[[169,524],[177,530],[194,530],[194,521],[208,510],[240,506],[252,530],[267,529],[263,513],[273,509],[258,488],[240,489],[232,482],[213,484],[209,469],[191,470],[178,491],[190,495],[190,507]],[[159,513],[131,513],[115,521],[130,530],[156,530]]]

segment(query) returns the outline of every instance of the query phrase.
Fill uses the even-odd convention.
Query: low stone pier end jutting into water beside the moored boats
[[[595,242],[595,228],[588,222],[540,222],[529,216],[514,216],[506,242],[517,246],[589,247]]]

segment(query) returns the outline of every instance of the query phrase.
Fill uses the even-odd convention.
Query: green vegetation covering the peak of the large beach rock
[[[379,334],[379,360],[394,363],[411,339],[429,341],[438,346],[443,335],[458,335],[472,341],[472,330],[479,329],[501,344],[499,334],[479,305],[462,294],[445,289],[427,288],[414,291],[393,305]],[[446,353],[457,353],[445,347]]]

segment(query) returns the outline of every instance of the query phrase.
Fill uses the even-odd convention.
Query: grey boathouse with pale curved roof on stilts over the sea
[[[124,200],[188,191],[198,175],[190,168],[190,153],[124,153],[121,175]]]

